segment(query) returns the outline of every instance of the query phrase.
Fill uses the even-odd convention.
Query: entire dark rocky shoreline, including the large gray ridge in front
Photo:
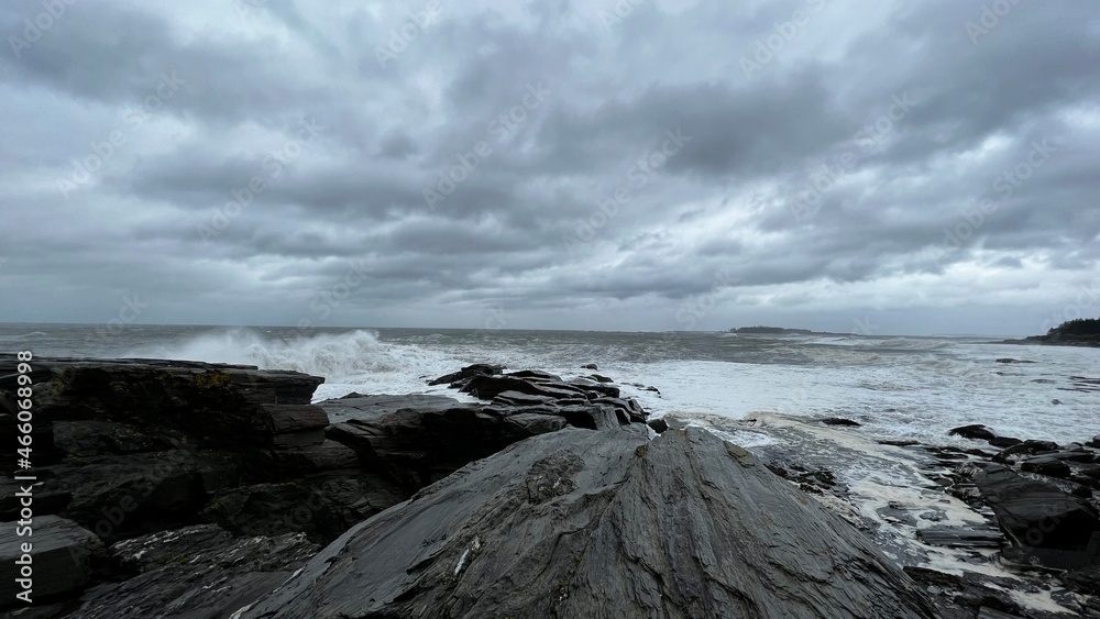
[[[13,464],[15,365],[0,355]],[[36,477],[35,604],[15,599],[28,538],[9,469],[0,609],[12,617],[1057,616],[992,579],[902,571],[809,498],[844,500],[827,469],[650,420],[593,366],[563,378],[479,364],[431,382],[475,402],[311,404],[323,379],[294,372],[32,365],[34,467],[19,474]],[[938,452],[930,478],[1001,528],[931,535],[1032,564],[1060,604],[1100,616],[1100,443],[1048,447]]]

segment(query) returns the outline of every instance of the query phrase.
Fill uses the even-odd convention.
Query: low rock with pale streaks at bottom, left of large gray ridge
[[[276,589],[318,548],[300,534],[233,538],[213,524],[127,540],[111,554],[135,576],[90,589],[72,618],[229,617]]]

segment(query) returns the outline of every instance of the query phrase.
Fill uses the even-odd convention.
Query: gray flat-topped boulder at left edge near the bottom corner
[[[28,588],[36,604],[75,597],[91,579],[95,564],[107,557],[99,538],[72,520],[36,515],[30,534],[20,535],[22,529],[14,522],[0,527],[0,609],[25,606],[15,595]],[[24,543],[31,552],[23,552]],[[29,563],[29,587],[16,582],[25,576],[16,561]]]

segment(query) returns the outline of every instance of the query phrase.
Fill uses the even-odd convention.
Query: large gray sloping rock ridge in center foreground
[[[564,429],[356,526],[270,617],[934,617],[869,540],[702,430]]]

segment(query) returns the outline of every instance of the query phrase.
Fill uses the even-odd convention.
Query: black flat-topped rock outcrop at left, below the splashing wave
[[[326,439],[328,416],[310,404],[323,378],[160,360],[31,365],[35,513],[70,519],[105,543],[204,521],[328,542],[411,494]],[[0,393],[14,393],[14,374],[15,358],[0,356]],[[14,413],[0,412],[6,434]],[[15,445],[2,441],[9,462]],[[13,496],[0,498],[4,520],[14,519]]]

